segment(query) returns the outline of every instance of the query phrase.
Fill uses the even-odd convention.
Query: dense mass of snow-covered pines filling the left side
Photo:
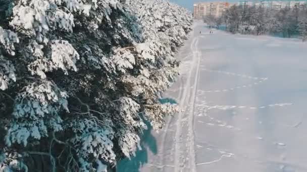
[[[0,23],[0,171],[106,171],[133,156],[178,75],[191,31],[165,1],[6,1]]]

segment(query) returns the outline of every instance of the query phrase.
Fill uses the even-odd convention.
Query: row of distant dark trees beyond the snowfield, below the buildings
[[[232,6],[221,17],[206,16],[204,22],[219,28],[221,25],[231,33],[241,34],[277,34],[283,37],[300,35],[307,40],[306,6],[280,11],[265,10],[263,7]]]

